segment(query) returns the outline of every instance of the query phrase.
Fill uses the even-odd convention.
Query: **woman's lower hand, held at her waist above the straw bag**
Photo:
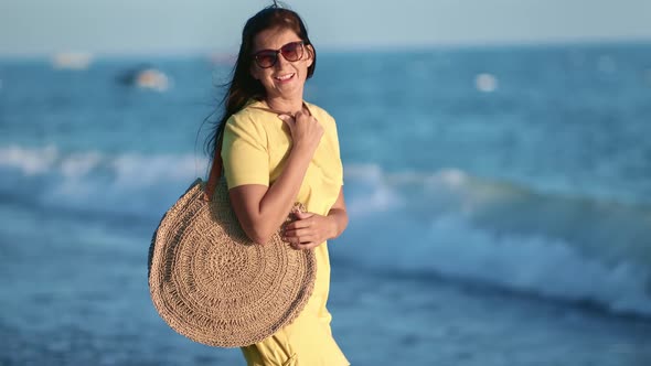
[[[284,240],[294,249],[312,249],[337,236],[337,223],[332,217],[314,213],[296,213],[297,220],[285,227]]]

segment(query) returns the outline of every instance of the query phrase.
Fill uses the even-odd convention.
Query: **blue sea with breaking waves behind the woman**
[[[651,44],[317,61],[352,365],[651,365]],[[174,333],[147,282],[161,216],[206,175],[232,62],[0,57],[0,365],[245,365]]]

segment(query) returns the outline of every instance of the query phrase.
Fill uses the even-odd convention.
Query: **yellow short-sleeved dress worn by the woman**
[[[343,184],[343,168],[334,119],[306,103],[324,133],[308,166],[297,201],[308,212],[327,215]],[[269,186],[282,172],[291,148],[288,127],[264,101],[249,101],[226,122],[222,159],[228,189],[243,184]],[[317,279],[313,293],[299,316],[260,343],[242,347],[248,365],[345,366],[350,365],[332,337],[332,316],[326,308],[330,289],[328,244],[316,247]]]

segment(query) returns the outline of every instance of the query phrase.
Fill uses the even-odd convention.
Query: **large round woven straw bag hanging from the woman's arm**
[[[307,304],[314,254],[291,249],[280,230],[264,246],[253,243],[231,208],[224,181],[211,202],[202,200],[203,187],[199,179],[192,183],[153,234],[151,299],[160,316],[192,341],[220,347],[260,342]]]

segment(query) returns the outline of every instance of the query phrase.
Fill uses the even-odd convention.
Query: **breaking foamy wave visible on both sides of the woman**
[[[207,161],[0,148],[0,197],[154,223]],[[549,195],[457,169],[345,168],[351,225],[333,260],[431,272],[651,316],[651,209]],[[153,225],[153,224],[151,224]]]

